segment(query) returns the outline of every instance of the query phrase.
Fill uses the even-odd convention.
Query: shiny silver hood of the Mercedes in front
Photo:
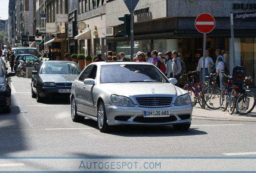
[[[183,95],[186,92],[171,83],[111,83],[101,84],[103,88],[116,95]]]

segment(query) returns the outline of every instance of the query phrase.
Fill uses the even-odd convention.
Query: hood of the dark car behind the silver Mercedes
[[[79,74],[39,74],[43,82],[74,82]]]

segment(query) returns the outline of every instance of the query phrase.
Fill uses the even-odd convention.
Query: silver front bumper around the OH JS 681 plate
[[[143,117],[143,111],[170,111],[169,117]],[[108,125],[167,125],[188,124],[192,120],[192,105],[171,107],[120,107],[105,105]]]

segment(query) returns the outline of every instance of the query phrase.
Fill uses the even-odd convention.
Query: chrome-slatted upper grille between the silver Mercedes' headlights
[[[172,97],[136,97],[140,107],[166,107],[171,106]]]

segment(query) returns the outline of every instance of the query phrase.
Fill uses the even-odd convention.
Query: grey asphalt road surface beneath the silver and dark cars
[[[29,78],[12,77],[12,111],[0,113],[0,171],[81,171],[81,158],[192,159],[188,165],[199,164],[193,163],[196,158],[211,165],[211,159],[244,157],[249,159],[246,163],[255,163],[256,122],[193,119],[188,131],[165,125],[114,127],[108,134],[100,133],[96,121],[72,122],[68,98],[37,103],[31,97],[30,82]],[[217,161],[223,163],[223,159]],[[180,166],[184,163],[175,162]],[[206,171],[213,166],[201,168]],[[255,164],[247,169],[256,170]]]

